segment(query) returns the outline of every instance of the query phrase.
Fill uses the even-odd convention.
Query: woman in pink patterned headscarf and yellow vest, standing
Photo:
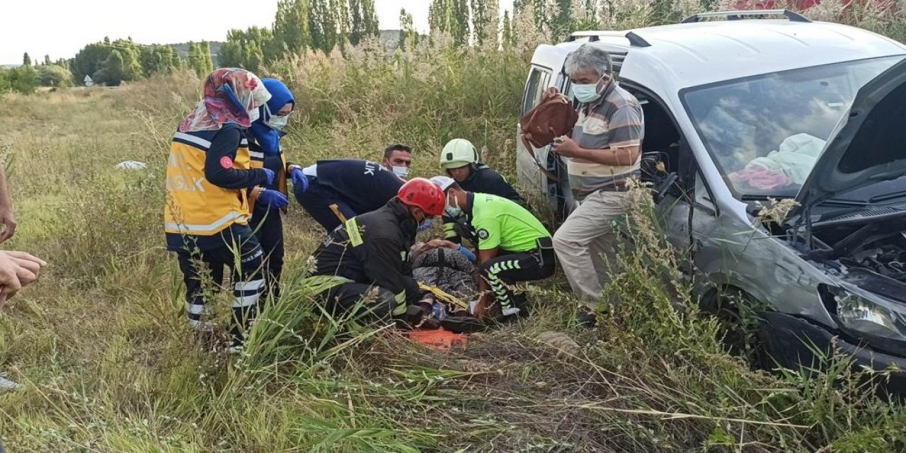
[[[204,98],[173,136],[167,165],[164,230],[186,283],[189,323],[203,331],[212,327],[205,320],[205,294],[214,288],[203,282],[220,285],[229,267],[234,274],[234,346],[242,344],[267,287],[264,254],[248,226],[250,202],[277,207],[286,202],[282,193],[265,188],[274,172],[261,168],[263,159],[252,155],[246,140],[246,129],[270,97],[252,72],[211,72]]]

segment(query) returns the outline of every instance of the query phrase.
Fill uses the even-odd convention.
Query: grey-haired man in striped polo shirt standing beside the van
[[[566,57],[565,72],[579,104],[572,137],[554,140],[567,160],[578,208],[554,234],[566,279],[585,304],[580,322],[594,323],[594,309],[616,262],[612,220],[627,208],[626,180],[639,176],[644,118],[639,101],[612,80],[610,55],[593,43]],[[547,97],[561,95],[549,89]]]

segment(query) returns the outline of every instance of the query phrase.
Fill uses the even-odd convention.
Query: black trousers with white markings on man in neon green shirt
[[[487,283],[494,292],[496,303],[504,316],[527,315],[525,294],[514,292],[508,286],[516,282],[542,280],[554,275],[554,247],[549,237],[539,241],[540,246],[530,252],[504,252],[482,267]]]

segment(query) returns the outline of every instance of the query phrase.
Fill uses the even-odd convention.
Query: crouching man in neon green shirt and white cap
[[[554,275],[551,234],[540,220],[515,201],[467,192],[445,176],[431,178],[431,182],[447,196],[446,215],[467,216],[469,226],[475,231],[478,267],[484,277],[478,280],[482,295],[475,314],[493,313],[493,318],[506,322],[527,316],[525,294],[516,294],[509,286]],[[439,246],[440,242],[446,241],[435,244]],[[497,304],[492,304],[495,301]]]

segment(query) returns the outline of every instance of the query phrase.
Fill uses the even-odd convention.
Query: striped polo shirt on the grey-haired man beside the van
[[[573,140],[585,149],[641,146],[644,135],[644,117],[639,101],[616,82],[610,83],[597,101],[579,106],[579,120],[573,128]],[[639,159],[626,167],[569,158],[566,169],[573,197],[581,200],[595,190],[612,186],[616,181],[639,176],[640,164],[641,154]]]

